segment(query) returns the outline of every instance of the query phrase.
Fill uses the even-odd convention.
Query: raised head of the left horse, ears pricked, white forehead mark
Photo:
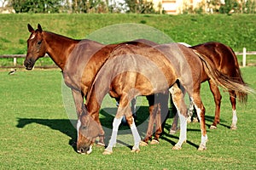
[[[31,32],[27,42],[27,53],[24,65],[27,70],[32,70],[38,58],[44,57],[46,48],[44,45],[44,36],[42,34],[42,27],[38,24],[38,29],[34,30],[32,26],[27,25],[28,31]]]

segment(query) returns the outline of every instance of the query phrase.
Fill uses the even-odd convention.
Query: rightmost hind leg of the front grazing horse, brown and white
[[[207,129],[206,129],[206,120],[205,120],[206,109],[201,102],[201,96],[199,93],[192,94],[191,99],[194,102],[195,110],[201,125],[201,144],[198,150],[207,150],[208,138],[207,138]]]

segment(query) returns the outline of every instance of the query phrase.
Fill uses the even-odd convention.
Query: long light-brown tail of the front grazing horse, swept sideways
[[[199,58],[202,61],[204,70],[207,73],[207,76],[210,77],[213,82],[215,82],[218,86],[221,86],[222,88],[226,90],[233,90],[236,92],[236,95],[241,100],[241,102],[247,101],[247,94],[255,94],[253,88],[249,88],[245,82],[241,82],[241,78],[233,78],[228,77],[221,71],[218,71],[215,67],[215,65],[212,63],[210,59],[207,58],[204,54],[198,53],[195,49],[193,49],[195,54],[199,56]],[[239,71],[239,77],[241,77],[240,70]]]

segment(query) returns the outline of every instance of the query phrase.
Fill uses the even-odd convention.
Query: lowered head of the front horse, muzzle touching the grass
[[[100,125],[88,113],[83,113],[78,120],[77,150],[80,154],[90,154],[92,145],[100,133]]]

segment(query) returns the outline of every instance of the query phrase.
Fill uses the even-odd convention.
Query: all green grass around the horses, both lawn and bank
[[[0,25],[0,54],[26,54],[28,23],[32,26],[40,23],[47,31],[78,39],[105,26],[137,23],[153,26],[175,42],[195,45],[218,41],[235,51],[243,47],[247,51],[256,50],[256,15],[0,14],[0,21],[3,23]],[[241,56],[238,59],[241,62]],[[249,59],[255,63],[255,56]],[[11,59],[0,59],[1,65],[11,63]],[[18,64],[22,63],[23,59],[18,59]],[[36,65],[45,64],[53,62],[40,59]],[[247,105],[237,105],[238,129],[230,131],[229,95],[222,92],[221,123],[217,130],[207,128],[209,141],[205,151],[196,150],[201,142],[198,123],[188,125],[188,142],[183,144],[183,150],[172,150],[179,134],[168,134],[172,125],[170,117],[160,144],[141,147],[139,154],[123,146],[114,148],[112,156],[103,156],[104,149],[94,147],[90,156],[83,156],[72,146],[77,133],[63,105],[61,71],[18,69],[13,76],[9,76],[8,71],[0,70],[0,169],[256,169],[256,97],[253,95],[248,97]],[[256,89],[256,67],[241,68],[241,72],[245,81]],[[209,126],[215,107],[207,83],[202,84],[201,95]],[[137,123],[148,116],[147,102],[141,99]],[[72,110],[72,105],[70,107]],[[106,114],[107,110],[115,111],[116,107],[114,104],[102,107],[102,124],[111,127],[113,116]],[[139,133],[143,138],[144,131]],[[118,146],[130,144],[132,138],[127,138],[131,135],[119,135]]]

